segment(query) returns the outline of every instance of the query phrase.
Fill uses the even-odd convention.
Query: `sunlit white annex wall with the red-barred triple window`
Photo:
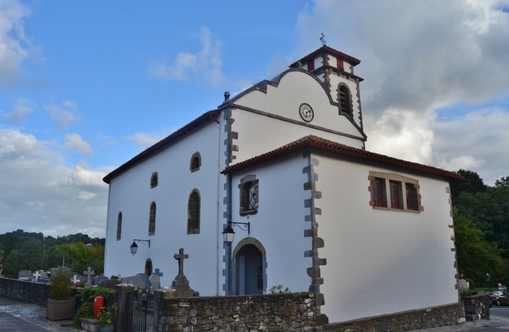
[[[325,306],[330,322],[457,302],[453,224],[446,180],[405,168],[352,161],[324,151],[314,171],[322,198],[315,205]],[[370,207],[370,171],[397,173],[419,181],[424,212]]]

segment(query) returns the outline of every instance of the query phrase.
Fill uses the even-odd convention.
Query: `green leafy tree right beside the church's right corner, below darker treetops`
[[[459,274],[481,283],[487,273],[492,280],[506,278],[502,274],[501,250],[496,243],[487,242],[484,233],[466,216],[459,214],[456,208],[453,209],[453,220]]]

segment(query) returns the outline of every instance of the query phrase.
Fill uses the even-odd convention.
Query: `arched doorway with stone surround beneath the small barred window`
[[[264,246],[254,237],[246,237],[235,246],[232,255],[231,290],[235,294],[266,294],[267,258]]]

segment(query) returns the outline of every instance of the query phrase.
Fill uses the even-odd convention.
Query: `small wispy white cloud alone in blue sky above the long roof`
[[[151,74],[179,81],[190,81],[195,77],[197,81],[205,81],[212,86],[225,83],[225,75],[221,72],[220,40],[215,39],[207,27],[192,35],[199,38],[202,44],[203,48],[199,52],[194,54],[181,52],[171,65],[167,65],[166,61],[153,61]]]

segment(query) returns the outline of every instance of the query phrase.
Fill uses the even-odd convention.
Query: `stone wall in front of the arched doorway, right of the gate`
[[[313,293],[161,299],[159,331],[313,331]]]

